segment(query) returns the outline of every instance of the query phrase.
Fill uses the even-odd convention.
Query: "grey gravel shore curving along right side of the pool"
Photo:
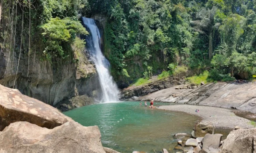
[[[241,128],[247,129],[254,127],[250,120],[238,117],[229,109],[225,108],[199,105],[168,105],[160,106],[158,109],[197,115],[202,118],[202,124],[211,124],[215,128],[234,129],[235,126],[240,126]],[[196,109],[199,109],[200,112],[195,112]]]

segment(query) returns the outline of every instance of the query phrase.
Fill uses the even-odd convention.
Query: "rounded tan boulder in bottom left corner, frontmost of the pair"
[[[11,123],[0,133],[0,153],[105,153],[98,126],[71,121],[54,129]]]

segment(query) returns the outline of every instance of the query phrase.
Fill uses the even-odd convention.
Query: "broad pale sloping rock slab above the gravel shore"
[[[179,85],[178,85],[179,86]],[[195,89],[175,89],[173,86],[167,89],[156,91],[152,94],[139,97],[144,101],[153,99],[154,101],[198,104],[207,106],[217,106],[225,108],[236,108],[244,111],[256,113],[256,83],[210,83],[199,86]],[[143,87],[141,87],[143,88]],[[140,89],[136,93],[141,93]],[[134,91],[124,90],[127,95]],[[130,92],[130,94],[129,94]],[[141,94],[143,95],[143,94]],[[175,96],[173,96],[175,95]]]

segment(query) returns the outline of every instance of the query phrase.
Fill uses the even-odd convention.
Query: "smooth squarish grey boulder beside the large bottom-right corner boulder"
[[[222,134],[206,134],[202,140],[202,152],[218,153],[222,136]]]

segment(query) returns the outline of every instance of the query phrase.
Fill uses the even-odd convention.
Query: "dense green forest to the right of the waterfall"
[[[108,16],[105,55],[116,79],[172,74],[176,66],[208,70],[217,81],[256,73],[255,0],[88,2],[89,12]]]

